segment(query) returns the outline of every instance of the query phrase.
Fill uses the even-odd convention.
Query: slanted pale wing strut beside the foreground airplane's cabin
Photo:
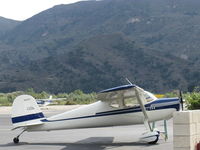
[[[149,131],[153,131],[153,129],[151,128],[151,125],[149,123],[149,117],[147,115],[146,108],[145,108],[144,103],[142,101],[142,97],[140,96],[139,89],[138,89],[138,87],[135,87],[134,89],[135,89],[136,98],[137,98],[138,103],[140,104],[140,107],[141,107],[142,112],[144,114],[144,125]]]

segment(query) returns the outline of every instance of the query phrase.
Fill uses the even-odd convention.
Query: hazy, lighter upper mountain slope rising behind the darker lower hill
[[[122,32],[148,47],[195,61],[200,46],[199,4],[198,0],[104,0],[59,5],[24,21],[4,41],[42,50],[46,57],[52,49],[62,53],[89,37]],[[20,53],[26,49],[20,47]]]

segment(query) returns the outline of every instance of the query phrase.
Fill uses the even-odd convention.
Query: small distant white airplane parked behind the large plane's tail
[[[52,95],[50,95],[49,98],[47,99],[36,99],[36,101],[40,107],[44,107],[44,106],[48,106],[49,104],[52,104],[55,101],[64,100],[64,99],[65,98],[52,98]]]

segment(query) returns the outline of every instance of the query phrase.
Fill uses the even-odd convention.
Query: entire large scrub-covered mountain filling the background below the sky
[[[200,83],[198,0],[58,5],[0,36],[0,90],[86,92],[125,84],[154,92]]]

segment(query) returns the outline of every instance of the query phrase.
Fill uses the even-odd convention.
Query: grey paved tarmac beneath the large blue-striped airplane
[[[75,108],[75,106],[73,107]],[[72,108],[72,109],[73,109]],[[1,107],[0,107],[1,109]],[[64,109],[43,109],[46,116],[63,112]],[[163,123],[156,123],[163,130]],[[145,131],[144,125],[120,126],[95,129],[74,129],[51,132],[25,132],[19,144],[13,138],[20,130],[11,131],[9,111],[0,111],[0,150],[172,150],[172,120],[168,121],[169,139],[160,137],[158,144],[149,145],[139,142]]]

